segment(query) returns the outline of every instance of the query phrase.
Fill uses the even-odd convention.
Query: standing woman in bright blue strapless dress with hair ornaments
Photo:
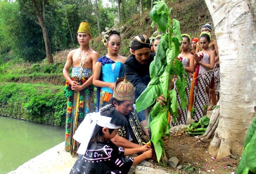
[[[118,54],[121,47],[120,33],[108,30],[102,39],[107,46],[108,54],[100,57],[95,65],[92,83],[97,86],[96,112],[110,103],[117,78],[123,77],[126,57]]]

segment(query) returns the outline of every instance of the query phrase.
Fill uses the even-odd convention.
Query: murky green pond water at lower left
[[[0,116],[0,174],[15,170],[64,140],[64,128]]]

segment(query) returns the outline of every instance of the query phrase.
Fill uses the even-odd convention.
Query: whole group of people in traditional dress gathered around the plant
[[[217,42],[211,40],[209,24],[201,30],[199,38],[182,35],[177,59],[187,73],[188,105],[184,110],[178,108],[177,122],[172,120],[172,126],[186,124],[191,110],[194,120],[198,121],[206,115],[207,109],[216,105],[215,90],[219,90]],[[132,165],[152,157],[150,146],[143,145],[149,140],[149,109],[137,113],[135,101],[151,80],[149,65],[156,52],[161,51],[157,49],[161,35],[133,37],[128,58],[118,54],[122,41],[116,29],[104,32],[102,42],[108,53],[102,57],[89,47],[91,38],[90,25],[81,22],[77,32],[80,47],[70,51],[63,68],[68,98],[65,150],[79,155],[70,173],[127,173]],[[213,69],[216,71],[211,71]],[[95,112],[94,86],[97,87]],[[175,89],[175,79],[170,86]],[[159,96],[157,101],[164,103],[165,99]],[[180,103],[178,92],[177,101]],[[162,139],[167,147],[168,137]],[[142,154],[125,158],[135,153]]]

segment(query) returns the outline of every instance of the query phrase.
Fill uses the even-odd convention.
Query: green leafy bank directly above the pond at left
[[[2,83],[0,105],[1,115],[49,125],[65,125],[63,86]]]

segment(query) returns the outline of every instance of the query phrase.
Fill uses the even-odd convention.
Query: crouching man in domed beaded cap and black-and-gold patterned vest
[[[139,124],[134,99],[135,88],[133,84],[126,80],[126,77],[119,78],[113,90],[112,104],[110,105],[125,116],[127,125],[119,129],[112,142],[125,148],[140,147],[143,142],[149,140],[143,138],[143,129],[142,125]],[[147,134],[147,131],[144,131],[144,134]],[[164,142],[165,147],[167,147],[168,137],[164,138]]]

